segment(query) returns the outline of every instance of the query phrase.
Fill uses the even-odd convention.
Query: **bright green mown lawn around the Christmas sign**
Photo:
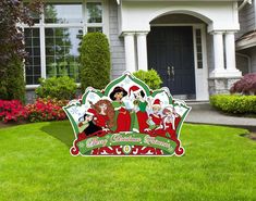
[[[256,200],[256,141],[184,125],[182,158],[71,156],[69,122],[0,129],[0,201]]]

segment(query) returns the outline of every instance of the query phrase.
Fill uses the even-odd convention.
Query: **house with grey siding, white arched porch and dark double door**
[[[39,77],[54,75],[69,75],[78,83],[81,37],[102,32],[110,41],[112,79],[125,70],[154,68],[173,96],[208,100],[209,95],[227,92],[242,76],[235,66],[235,33],[240,30],[239,8],[246,3],[247,0],[48,1],[42,15],[35,16],[35,26],[24,26],[29,52],[26,88],[35,89]]]

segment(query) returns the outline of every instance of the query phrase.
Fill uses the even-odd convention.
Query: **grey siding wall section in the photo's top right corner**
[[[246,4],[239,13],[240,26],[241,29],[237,33],[236,37],[241,37],[244,34],[255,30],[256,28],[256,11],[255,11],[255,0],[252,4]]]

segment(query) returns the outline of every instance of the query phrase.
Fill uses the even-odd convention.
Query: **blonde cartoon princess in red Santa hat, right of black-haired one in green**
[[[161,104],[160,104],[160,100],[156,99],[151,105],[153,108],[153,114],[149,115],[149,125],[151,125],[153,129],[157,129],[161,126],[162,124],[162,117],[159,114],[160,110],[161,110]],[[150,122],[153,124],[150,124]]]

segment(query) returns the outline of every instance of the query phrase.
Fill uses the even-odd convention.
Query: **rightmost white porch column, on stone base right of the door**
[[[229,75],[241,76],[241,72],[235,67],[235,41],[234,33],[228,32],[224,35],[224,46],[225,46],[225,65]]]

